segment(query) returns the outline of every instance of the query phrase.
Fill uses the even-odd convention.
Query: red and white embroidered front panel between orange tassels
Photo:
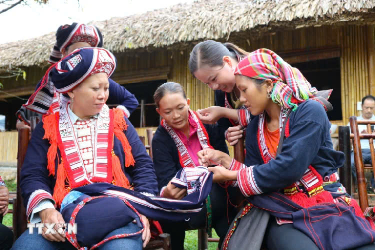
[[[68,115],[68,104],[64,105],[60,112],[59,135],[64,149],[62,158],[68,163],[69,169],[66,170],[72,178],[69,179],[70,186],[74,188],[91,183],[90,179],[93,178],[99,178],[96,181],[106,182],[109,108],[104,105],[97,120],[77,121],[73,125]],[[75,132],[74,129],[77,131]]]

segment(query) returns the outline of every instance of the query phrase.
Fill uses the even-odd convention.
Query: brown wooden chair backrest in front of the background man
[[[366,189],[366,179],[364,174],[364,165],[363,165],[363,157],[362,157],[362,147],[361,147],[361,139],[368,139],[370,144],[370,152],[371,152],[371,162],[373,173],[375,176],[375,153],[374,153],[374,143],[373,139],[375,138],[375,134],[371,133],[371,125],[375,125],[375,121],[370,120],[360,120],[358,121],[355,116],[351,116],[349,118],[350,129],[353,133],[353,153],[354,153],[354,163],[355,168],[357,171],[357,183],[358,183],[358,195],[359,195],[359,205],[363,211],[369,206],[368,198],[367,198],[367,189]],[[361,134],[358,125],[366,125],[367,133]]]

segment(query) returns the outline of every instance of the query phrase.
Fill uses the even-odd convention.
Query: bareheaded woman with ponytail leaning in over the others
[[[218,123],[231,146],[243,136],[243,129],[249,124],[251,113],[239,100],[234,69],[249,53],[231,43],[213,40],[200,42],[190,53],[191,74],[215,90],[215,106],[198,110],[203,123]]]

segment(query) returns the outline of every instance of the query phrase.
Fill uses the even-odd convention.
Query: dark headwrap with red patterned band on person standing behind
[[[103,37],[94,25],[73,22],[72,25],[62,25],[56,31],[56,43],[53,46],[48,62],[54,64],[62,59],[62,49],[72,43],[87,42],[91,47],[102,47]]]

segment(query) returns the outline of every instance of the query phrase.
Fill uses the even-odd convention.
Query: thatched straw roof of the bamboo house
[[[375,23],[375,0],[199,0],[139,15],[94,22],[112,52],[160,48],[238,32],[326,24]],[[45,65],[54,32],[0,44],[0,68]]]

